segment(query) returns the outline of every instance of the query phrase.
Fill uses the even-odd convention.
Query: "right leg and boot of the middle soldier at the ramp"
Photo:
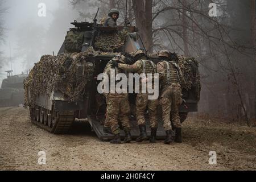
[[[148,115],[150,118],[150,128],[151,128],[151,136],[150,143],[156,142],[156,132],[158,129],[158,117],[157,117],[157,109],[158,109],[158,100],[148,100]]]

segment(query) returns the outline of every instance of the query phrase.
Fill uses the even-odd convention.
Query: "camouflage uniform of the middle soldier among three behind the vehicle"
[[[135,72],[135,73],[138,73],[139,75],[141,73],[145,73],[146,76],[148,73],[151,73],[152,76],[154,76],[154,73],[156,73],[156,65],[151,60],[138,60],[133,65],[118,64],[118,68],[121,68],[127,72]],[[152,86],[154,86],[154,84],[152,84]],[[144,112],[146,110],[146,107],[148,107],[150,127],[151,128],[158,127],[158,118],[156,116],[158,104],[159,104],[158,100],[148,100],[148,93],[143,94],[140,92],[139,94],[137,94],[136,116],[137,116],[138,126],[146,125]]]

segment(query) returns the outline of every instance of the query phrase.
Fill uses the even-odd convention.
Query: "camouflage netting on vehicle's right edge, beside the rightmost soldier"
[[[200,92],[201,92],[201,82],[200,82],[200,74],[199,74],[199,63],[195,58],[187,58],[184,56],[179,57],[179,66],[181,71],[183,72],[185,81],[187,85],[185,89],[191,90],[192,88],[195,91],[196,100],[200,100]]]

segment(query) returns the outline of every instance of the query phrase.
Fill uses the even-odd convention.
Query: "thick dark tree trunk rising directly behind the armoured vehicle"
[[[152,0],[133,0],[136,26],[148,52],[152,52]]]

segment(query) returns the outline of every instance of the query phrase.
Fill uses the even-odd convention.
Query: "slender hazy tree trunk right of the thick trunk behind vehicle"
[[[186,1],[182,0],[183,5],[186,5]],[[183,6],[182,9],[182,27],[183,27],[183,44],[184,44],[184,56],[189,55],[189,49],[188,49],[188,24],[187,24],[187,10],[185,10],[185,7]]]

